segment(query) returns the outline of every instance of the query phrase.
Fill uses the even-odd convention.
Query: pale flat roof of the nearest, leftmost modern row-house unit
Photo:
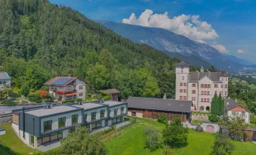
[[[53,108],[39,108],[31,111],[26,111],[26,113],[40,117],[45,115],[54,115],[62,112],[70,112],[73,110],[79,110],[79,108],[75,108],[67,105],[60,105],[60,106],[54,106]]]

